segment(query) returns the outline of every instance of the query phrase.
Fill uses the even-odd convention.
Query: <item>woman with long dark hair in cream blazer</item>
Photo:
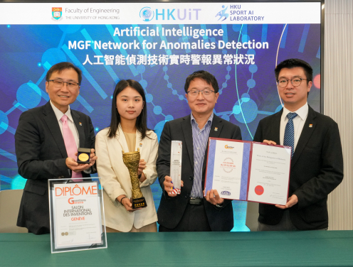
[[[132,209],[130,173],[122,161],[122,150],[137,151],[139,185],[147,207]],[[112,98],[110,127],[95,138],[97,170],[102,180],[107,232],[157,231],[157,213],[150,185],[157,179],[157,134],[147,129],[144,90],[135,80],[117,83]]]

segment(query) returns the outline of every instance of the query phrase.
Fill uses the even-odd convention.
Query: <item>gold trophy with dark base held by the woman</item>
[[[147,207],[146,200],[142,195],[141,189],[139,189],[139,175],[137,174],[137,170],[139,169],[139,158],[139,148],[137,148],[137,151],[135,152],[124,153],[124,151],[122,151],[122,160],[130,173],[132,186],[132,209]]]

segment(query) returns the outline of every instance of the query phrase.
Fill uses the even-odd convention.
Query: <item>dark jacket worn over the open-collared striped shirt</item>
[[[215,127],[218,128],[217,131],[215,131]],[[209,137],[241,140],[241,130],[238,126],[214,115]],[[165,193],[163,185],[164,177],[170,175],[170,148],[172,140],[183,142],[181,180],[184,181],[184,187],[181,187],[181,194],[177,195],[177,197],[169,197],[167,193]],[[207,149],[208,146],[206,146],[202,171],[202,187],[204,187],[205,182]],[[194,146],[192,140],[191,115],[175,119],[174,121],[167,121],[164,125],[159,141],[156,165],[159,184],[163,190],[157,212],[158,223],[169,229],[174,229],[177,227],[177,224],[179,224],[184,214],[194,182]],[[225,200],[223,206],[218,208],[206,201],[204,197],[204,207],[212,231],[231,231],[234,224],[231,200]]]

